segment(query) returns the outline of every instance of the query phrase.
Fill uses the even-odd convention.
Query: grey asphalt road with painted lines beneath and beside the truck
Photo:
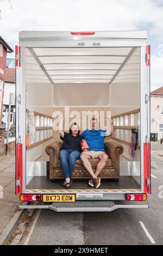
[[[162,245],[163,158],[152,156],[149,209],[58,213],[36,210],[19,245]],[[120,202],[118,202],[120,203]],[[16,236],[15,236],[16,237]]]

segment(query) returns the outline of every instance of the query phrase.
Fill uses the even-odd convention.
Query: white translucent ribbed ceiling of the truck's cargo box
[[[27,83],[139,81],[140,48],[133,50],[134,48],[131,47],[32,48],[31,50],[26,48]],[[133,52],[131,56],[130,52]],[[122,65],[122,70],[114,77],[123,62],[126,64]],[[112,79],[113,77],[115,80]]]

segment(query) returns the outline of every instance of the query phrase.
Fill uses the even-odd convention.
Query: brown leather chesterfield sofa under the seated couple
[[[52,180],[64,178],[59,160],[61,145],[62,141],[54,141],[45,148],[46,153],[49,155],[49,178]],[[99,174],[99,177],[103,179],[117,180],[120,178],[120,155],[123,153],[123,147],[116,142],[106,141],[104,142],[104,149],[105,153],[109,156],[109,159],[106,162],[105,168]],[[96,170],[98,161],[98,159],[90,160],[93,170]],[[72,174],[72,179],[89,178],[90,174],[84,168],[80,159],[77,160]]]

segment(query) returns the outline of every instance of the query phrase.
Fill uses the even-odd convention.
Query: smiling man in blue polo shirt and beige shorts
[[[110,121],[110,118],[108,119]],[[98,188],[101,185],[101,179],[98,177],[98,175],[101,173],[108,160],[108,155],[106,155],[104,152],[104,138],[113,134],[113,125],[111,123],[111,131],[97,130],[98,120],[96,118],[92,118],[90,121],[90,126],[90,130],[87,129],[82,133],[82,136],[89,145],[89,150],[82,152],[80,159],[87,172],[89,172],[92,176],[92,178],[89,180],[89,185],[91,187]],[[89,159],[99,159],[95,173],[93,172]]]

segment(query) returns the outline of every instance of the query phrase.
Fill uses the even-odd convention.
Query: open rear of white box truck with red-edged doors
[[[24,201],[41,202],[20,209],[148,208],[136,201],[146,200],[151,193],[149,69],[145,31],[20,32],[16,46],[16,194]],[[105,145],[114,148],[116,143],[122,149],[121,153],[109,151],[110,167],[105,168],[98,189],[87,186],[80,168],[69,190],[62,187],[62,176],[53,176],[53,168],[61,173],[53,163],[55,148],[49,146],[60,141],[53,124],[57,113],[71,121],[76,120],[76,112],[79,122],[83,112],[86,122],[89,113],[104,122],[110,113],[114,135],[105,138]]]

